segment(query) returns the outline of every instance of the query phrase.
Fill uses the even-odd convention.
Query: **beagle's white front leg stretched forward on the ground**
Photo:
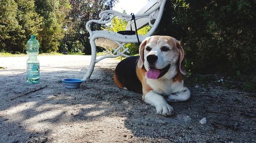
[[[156,107],[159,115],[171,116],[174,113],[173,107],[166,102],[165,98],[153,91],[145,95],[145,102]]]

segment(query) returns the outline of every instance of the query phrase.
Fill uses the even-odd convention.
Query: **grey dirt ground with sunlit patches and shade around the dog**
[[[66,89],[61,79],[82,78],[90,56],[38,59],[40,82],[29,84],[27,57],[0,57],[0,142],[256,142],[256,95],[228,77],[187,78],[191,98],[170,102],[176,114],[167,118],[115,86],[118,60],[97,63],[91,80]]]

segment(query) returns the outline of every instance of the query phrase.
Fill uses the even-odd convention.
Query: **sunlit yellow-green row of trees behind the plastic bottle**
[[[57,51],[69,10],[68,0],[0,1],[0,51],[25,53],[31,34],[37,36],[40,52]]]

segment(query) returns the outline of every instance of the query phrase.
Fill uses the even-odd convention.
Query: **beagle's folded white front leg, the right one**
[[[167,101],[186,101],[190,98],[190,91],[184,87],[180,92],[169,95]]]

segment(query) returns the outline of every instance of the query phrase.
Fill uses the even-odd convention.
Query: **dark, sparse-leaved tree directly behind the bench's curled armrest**
[[[72,10],[68,16],[68,39],[70,42],[79,41],[85,47],[84,52],[91,54],[89,33],[86,31],[86,23],[91,19],[99,19],[99,13],[112,9],[117,0],[71,0]],[[100,30],[102,25],[92,24],[92,30]]]

